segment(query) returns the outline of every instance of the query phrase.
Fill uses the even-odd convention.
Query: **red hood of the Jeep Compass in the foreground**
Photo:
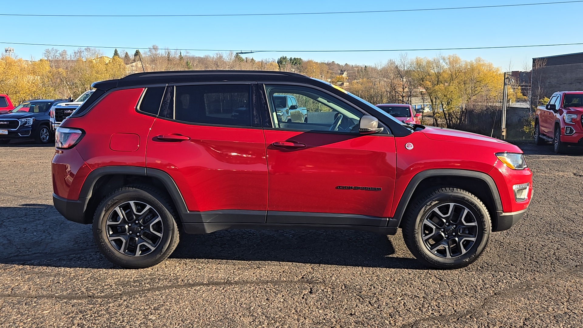
[[[433,140],[462,142],[464,144],[475,144],[476,146],[489,146],[491,148],[497,148],[500,149],[501,152],[522,153],[522,150],[516,145],[509,144],[508,142],[502,141],[500,139],[490,138],[486,137],[485,135],[472,132],[428,126],[426,126],[421,132],[423,132],[427,138]]]

